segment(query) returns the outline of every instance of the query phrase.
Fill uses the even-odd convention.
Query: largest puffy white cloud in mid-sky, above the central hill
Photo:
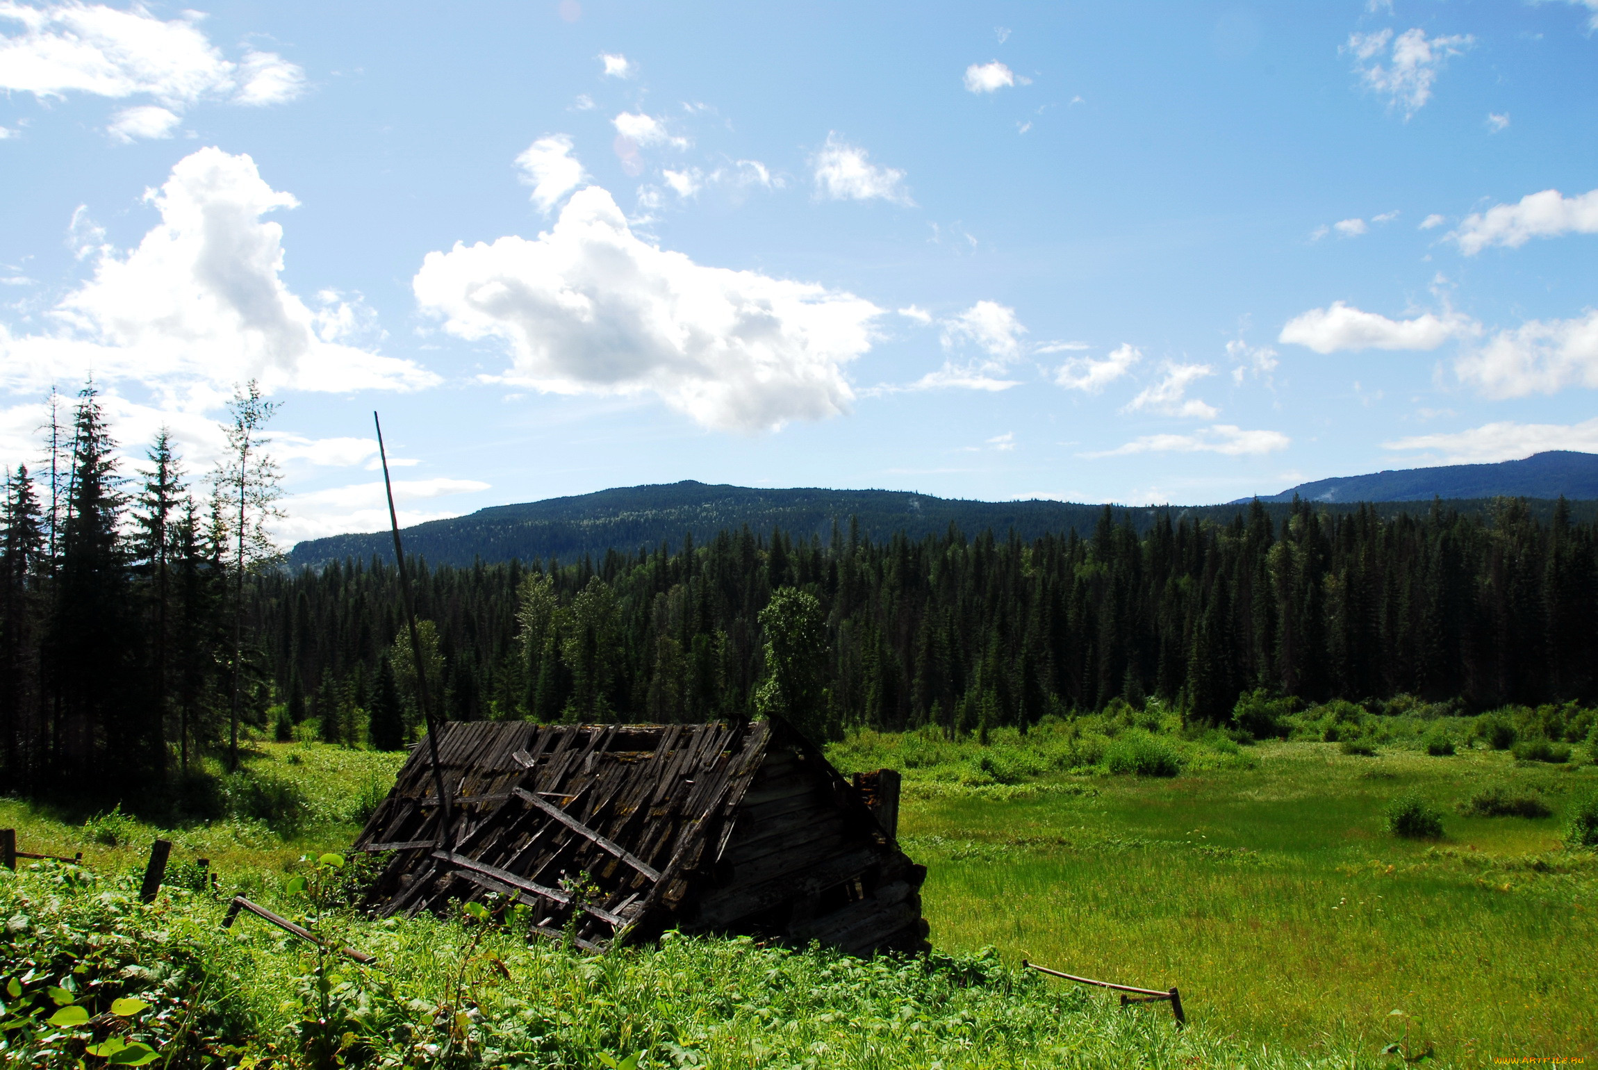
[[[638,238],[590,185],[537,240],[430,252],[420,307],[499,339],[507,378],[555,393],[654,393],[708,428],[775,430],[845,412],[844,366],[882,310],[853,294],[695,264]]]

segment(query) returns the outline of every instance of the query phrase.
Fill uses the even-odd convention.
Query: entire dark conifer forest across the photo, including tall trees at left
[[[233,402],[229,460],[190,478],[163,433],[123,471],[94,390],[6,474],[0,762],[24,791],[121,795],[237,763],[240,730],[396,749],[420,722],[396,570],[291,572],[265,535],[270,404]],[[1598,692],[1598,524],[1524,501],[1398,517],[1256,503],[1227,524],[1031,541],[724,530],[599,561],[415,562],[422,674],[452,719],[705,720],[817,736],[951,733],[1159,698],[1218,723],[1245,692],[1469,709]]]

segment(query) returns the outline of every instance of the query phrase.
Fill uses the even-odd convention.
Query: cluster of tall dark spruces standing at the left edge
[[[86,385],[51,391],[43,460],[0,500],[0,783],[129,797],[205,754],[238,765],[238,728],[275,693],[246,578],[278,559],[267,524],[273,410],[241,386],[227,452],[190,479],[171,431],[126,471]]]

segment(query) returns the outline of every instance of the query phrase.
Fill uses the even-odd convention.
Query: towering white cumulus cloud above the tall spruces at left
[[[332,294],[313,310],[283,284],[283,227],[262,216],[297,201],[267,185],[249,157],[201,149],[145,196],[160,224],[126,254],[94,252],[94,276],[58,303],[54,332],[0,327],[0,386],[40,390],[89,372],[168,396],[230,393],[246,378],[267,391],[438,382],[411,361],[336,340],[361,316]]]

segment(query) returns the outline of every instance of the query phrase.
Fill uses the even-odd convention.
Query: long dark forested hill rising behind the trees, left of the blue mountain
[[[1592,497],[1598,498],[1598,492]],[[1291,495],[1288,495],[1291,501]],[[1464,514],[1485,511],[1485,501],[1453,501]],[[1269,505],[1274,521],[1288,514],[1288,505]],[[567,498],[548,498],[521,505],[500,505],[468,516],[417,524],[404,532],[407,554],[417,554],[436,565],[470,565],[475,561],[548,562],[558,557],[575,562],[583,554],[602,557],[607,549],[634,551],[660,543],[681,545],[692,533],[700,545],[718,532],[748,525],[770,533],[781,529],[797,538],[818,535],[831,545],[833,524],[849,530],[850,519],[860,533],[884,541],[904,533],[912,540],[941,535],[954,524],[967,535],[1015,532],[1023,540],[1071,530],[1090,532],[1104,506],[1069,501],[964,501],[935,498],[904,490],[825,490],[815,487],[757,489],[727,484],[703,484],[692,479],[642,487],[615,487]],[[1334,511],[1346,511],[1333,506]],[[1382,509],[1382,514],[1414,511],[1414,506]],[[1552,503],[1532,503],[1539,519],[1552,516]],[[1130,524],[1138,535],[1155,522],[1159,509],[1115,508],[1117,524]],[[1588,508],[1572,509],[1574,519],[1585,519]],[[1221,524],[1238,514],[1235,505],[1213,505],[1170,509],[1173,522],[1210,519]],[[289,565],[323,565],[331,561],[393,559],[393,541],[387,532],[371,535],[334,535],[307,540],[289,551]]]

